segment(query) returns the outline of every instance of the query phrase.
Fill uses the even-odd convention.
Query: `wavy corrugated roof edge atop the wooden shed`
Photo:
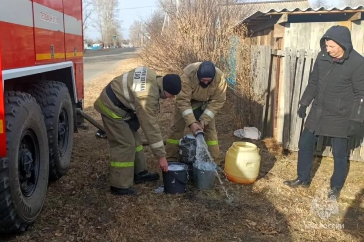
[[[241,20],[240,23],[252,23],[253,21],[262,21],[264,19],[264,16],[266,16],[267,14],[272,14],[272,13],[289,13],[289,14],[295,14],[295,13],[302,13],[302,12],[332,12],[332,13],[338,13],[338,12],[345,12],[345,11],[362,11],[364,10],[364,6],[360,5],[357,7],[342,7],[342,8],[337,8],[337,7],[332,7],[332,8],[279,8],[279,10],[277,9],[268,9],[266,11],[257,11],[255,13],[253,13],[252,15],[250,15],[249,17],[246,17],[245,19]],[[240,24],[239,23],[239,24]]]

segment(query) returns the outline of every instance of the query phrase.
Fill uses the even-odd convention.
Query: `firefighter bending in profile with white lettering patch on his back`
[[[132,69],[115,77],[101,92],[94,107],[101,114],[110,145],[111,193],[134,195],[135,183],[158,180],[158,173],[148,173],[138,129],[141,127],[160,167],[168,165],[158,126],[159,98],[173,98],[181,91],[178,75],[164,77],[145,67]]]

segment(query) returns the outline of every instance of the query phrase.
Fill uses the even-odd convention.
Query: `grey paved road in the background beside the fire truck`
[[[84,82],[88,82],[104,72],[116,67],[119,61],[136,57],[135,48],[105,49],[102,51],[86,50],[83,57]]]

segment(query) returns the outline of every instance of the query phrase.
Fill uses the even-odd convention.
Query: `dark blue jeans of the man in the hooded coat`
[[[300,141],[298,142],[298,162],[297,175],[300,181],[310,182],[310,171],[313,161],[313,147],[317,142],[318,136],[304,128]],[[347,170],[347,138],[331,138],[332,154],[334,157],[334,172],[330,183],[331,187],[341,189],[344,186],[345,174]]]

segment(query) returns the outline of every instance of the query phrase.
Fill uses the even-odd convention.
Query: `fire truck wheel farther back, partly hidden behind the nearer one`
[[[34,84],[29,93],[43,111],[49,144],[49,179],[56,181],[66,174],[73,146],[73,108],[67,86],[57,81]]]

